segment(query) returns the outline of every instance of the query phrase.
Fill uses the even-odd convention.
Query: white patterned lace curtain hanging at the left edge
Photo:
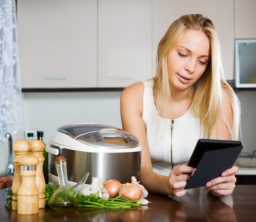
[[[15,0],[0,0],[0,141],[25,130]]]

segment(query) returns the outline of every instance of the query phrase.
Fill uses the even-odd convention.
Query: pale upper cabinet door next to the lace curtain
[[[17,1],[22,88],[97,87],[97,1]]]

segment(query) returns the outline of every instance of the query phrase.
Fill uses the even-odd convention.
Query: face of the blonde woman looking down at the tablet
[[[167,56],[172,89],[189,89],[204,73],[211,56],[209,38],[202,31],[186,31]]]

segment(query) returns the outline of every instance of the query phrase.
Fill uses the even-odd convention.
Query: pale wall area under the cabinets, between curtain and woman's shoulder
[[[95,122],[121,127],[120,92],[23,93],[28,129],[45,131],[49,143],[58,127]]]

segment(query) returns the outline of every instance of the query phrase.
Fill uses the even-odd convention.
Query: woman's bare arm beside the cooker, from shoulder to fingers
[[[135,135],[141,143],[141,184],[152,193],[177,197],[185,195],[186,191],[183,188],[190,178],[186,173],[191,173],[193,168],[184,165],[177,167],[171,171],[170,176],[153,172],[146,129],[142,120],[143,95],[144,85],[140,82],[124,89],[120,98],[123,129]]]

